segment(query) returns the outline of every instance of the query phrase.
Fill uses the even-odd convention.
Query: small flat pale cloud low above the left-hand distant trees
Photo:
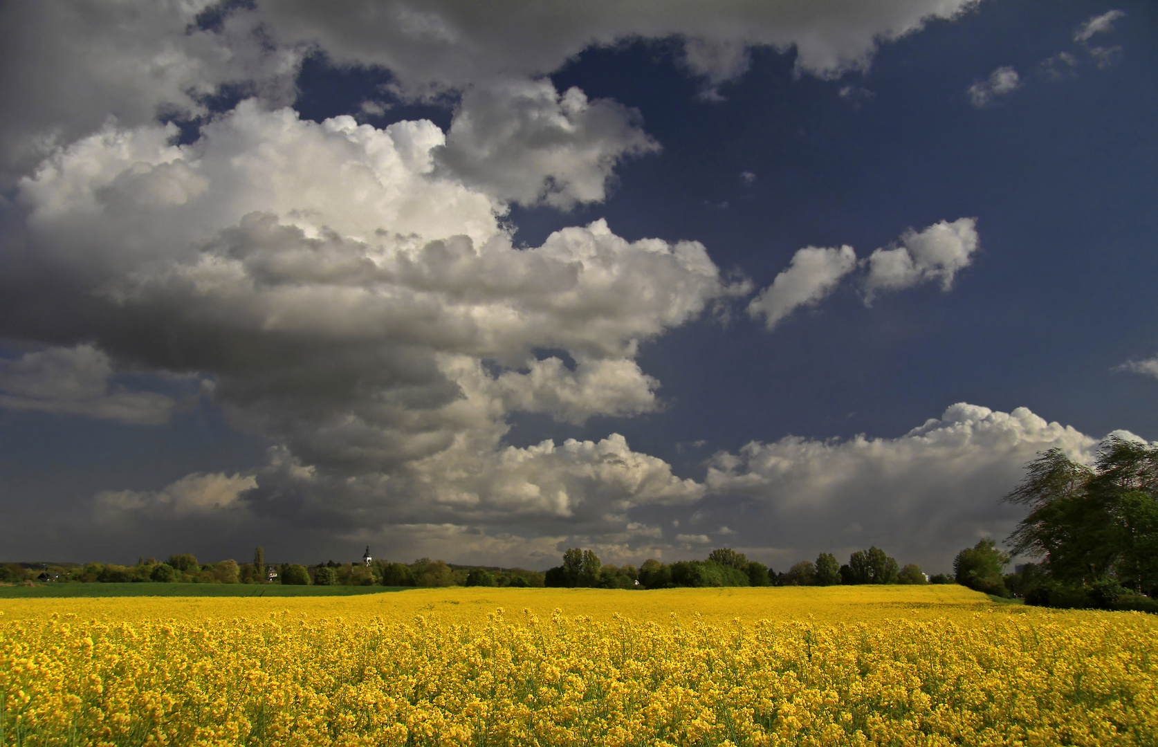
[[[94,497],[96,517],[122,519],[124,514],[181,519],[190,515],[217,515],[243,510],[243,493],[257,486],[252,475],[195,473],[157,491],[105,490]]]

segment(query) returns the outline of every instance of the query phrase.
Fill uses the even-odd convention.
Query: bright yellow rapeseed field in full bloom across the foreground
[[[947,587],[0,600],[0,745],[1158,745],[1158,618]]]

